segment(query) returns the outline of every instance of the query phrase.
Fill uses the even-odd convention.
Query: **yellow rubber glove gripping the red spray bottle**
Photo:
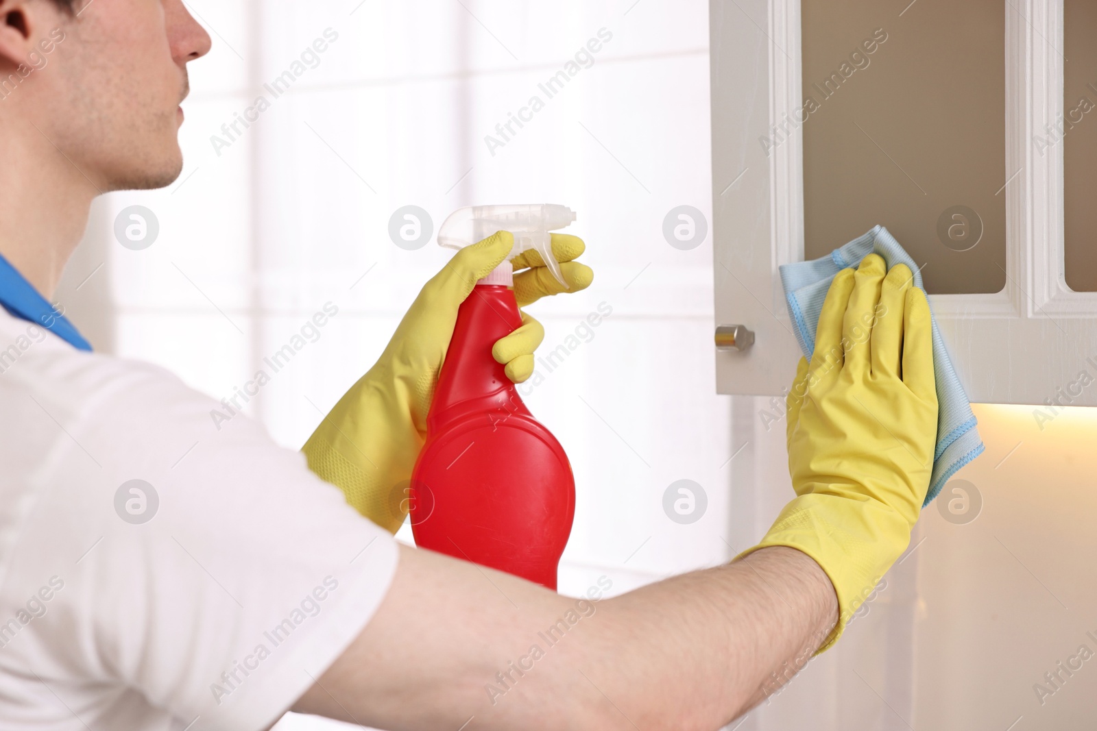
[[[427,436],[427,412],[457,308],[513,244],[513,236],[500,231],[459,251],[423,286],[377,363],[302,448],[313,472],[340,488],[348,503],[389,533],[396,533],[407,515],[408,480]],[[553,233],[552,249],[569,288],[548,272],[540,254],[523,252],[511,261],[519,307],[585,289],[593,281],[589,267],[573,261],[585,249],[581,239]],[[521,382],[533,375],[533,352],[543,339],[544,328],[523,312],[522,325],[497,341],[491,355],[506,364],[512,381]]]

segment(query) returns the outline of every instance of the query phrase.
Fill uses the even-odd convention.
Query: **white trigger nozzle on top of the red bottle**
[[[507,261],[488,277],[490,284],[510,284],[510,260],[522,252],[534,250],[553,276],[568,289],[559,262],[552,253],[552,233],[567,227],[576,218],[567,206],[531,204],[511,206],[470,206],[450,214],[438,229],[438,243],[448,249],[463,249],[483,241],[497,231],[510,231],[514,236],[514,248]]]

